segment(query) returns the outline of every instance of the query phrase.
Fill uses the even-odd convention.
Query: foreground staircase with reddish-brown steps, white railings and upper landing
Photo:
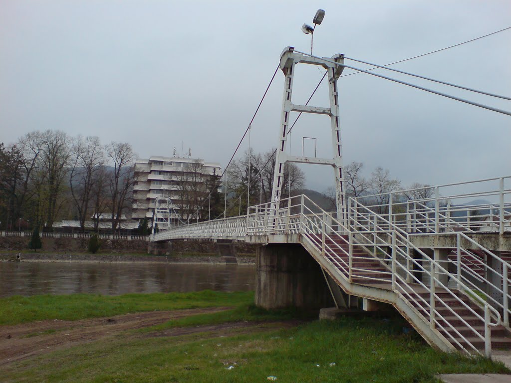
[[[345,293],[393,304],[427,342],[441,349],[490,356],[492,348],[511,348],[507,282],[500,288],[503,296],[496,299],[463,272],[461,256],[433,259],[414,246],[406,232],[363,205],[352,202],[345,227],[335,213],[299,198],[282,200],[278,211],[271,211],[269,204],[253,207],[247,235],[300,234],[297,241]],[[456,253],[469,254],[460,245]],[[452,264],[461,266],[452,271]]]

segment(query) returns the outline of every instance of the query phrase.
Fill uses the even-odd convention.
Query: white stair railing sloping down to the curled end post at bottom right
[[[373,246],[380,250],[381,253],[379,255],[382,256],[382,260],[384,262],[387,261],[391,265],[392,290],[401,294],[423,318],[429,321],[431,328],[439,329],[446,339],[450,339],[451,342],[466,352],[480,352],[468,337],[463,336],[450,323],[452,319],[448,319],[447,315],[443,314],[447,312],[449,316],[454,317],[454,320],[463,323],[476,339],[483,341],[485,355],[491,356],[491,327],[495,327],[501,322],[498,310],[477,295],[467,296],[470,301],[477,303],[483,310],[482,315],[478,313],[470,304],[448,288],[447,282],[443,281],[442,277],[453,279],[461,290],[467,292],[471,291],[468,285],[460,280],[457,275],[450,273],[438,261],[415,247],[409,241],[408,234],[404,230],[354,199],[350,199],[349,204],[349,226],[354,229],[356,236],[361,237],[360,243],[365,243],[366,247],[369,245],[369,247]],[[391,233],[387,230],[389,227],[393,229]],[[377,242],[373,242],[375,238],[374,232],[378,233]],[[391,249],[390,254],[387,251],[389,248]],[[420,254],[424,264],[429,265],[429,267],[425,266],[423,262],[414,259],[410,251]],[[429,284],[423,282],[425,279],[428,280]],[[422,293],[417,292],[417,290]],[[473,325],[464,320],[451,307],[449,301],[441,297],[440,294],[447,295],[451,302],[457,302],[457,304],[463,306],[465,310],[468,310],[469,313],[477,318],[484,325],[484,336]],[[423,295],[427,295],[427,299]],[[492,322],[491,313],[493,313],[495,322]]]

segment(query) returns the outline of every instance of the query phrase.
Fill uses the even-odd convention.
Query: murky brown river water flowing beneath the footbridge
[[[0,297],[35,294],[249,291],[255,266],[0,262]]]

